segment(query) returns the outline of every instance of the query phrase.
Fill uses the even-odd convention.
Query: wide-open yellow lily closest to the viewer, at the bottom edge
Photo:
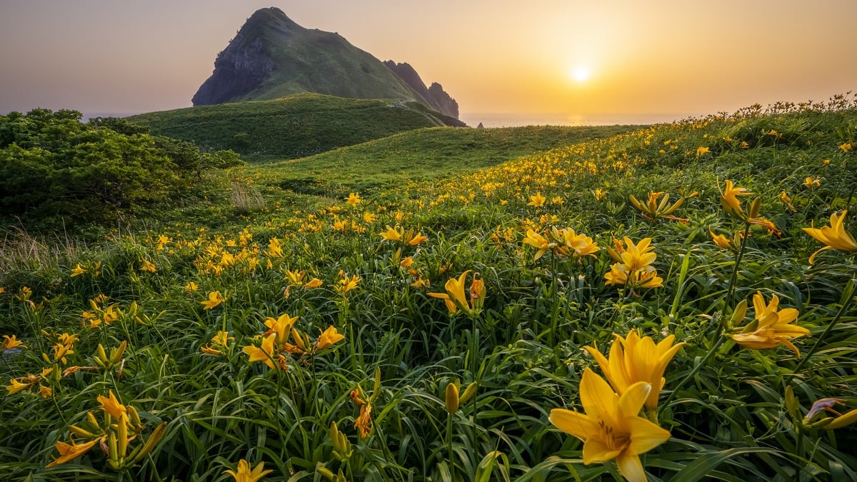
[[[580,401],[585,413],[564,408],[550,411],[550,423],[584,442],[584,464],[616,459],[620,473],[632,482],[646,480],[639,455],[666,442],[670,434],[638,416],[649,396],[649,383],[632,384],[616,395],[589,368],[580,381]]]

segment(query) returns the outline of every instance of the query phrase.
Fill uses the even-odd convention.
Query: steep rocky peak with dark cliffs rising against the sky
[[[392,67],[391,67],[392,64]],[[324,93],[355,99],[414,99],[458,118],[440,84],[426,87],[407,63],[381,63],[338,33],[304,28],[277,8],[259,9],[214,61],[194,105]]]

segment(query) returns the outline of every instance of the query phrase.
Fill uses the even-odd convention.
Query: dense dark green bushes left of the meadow
[[[234,152],[200,154],[124,119],[80,120],[77,111],[46,109],[0,116],[4,216],[47,228],[111,223],[167,207],[205,169],[241,163]]]

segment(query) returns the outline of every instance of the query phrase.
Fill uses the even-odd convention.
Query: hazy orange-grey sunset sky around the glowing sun
[[[857,91],[857,0],[0,0],[0,113],[189,106],[270,6],[411,63],[463,113],[695,115]]]

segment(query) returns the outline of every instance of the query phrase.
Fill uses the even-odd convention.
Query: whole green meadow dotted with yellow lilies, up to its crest
[[[416,130],[10,232],[0,479],[857,479],[855,137]]]

